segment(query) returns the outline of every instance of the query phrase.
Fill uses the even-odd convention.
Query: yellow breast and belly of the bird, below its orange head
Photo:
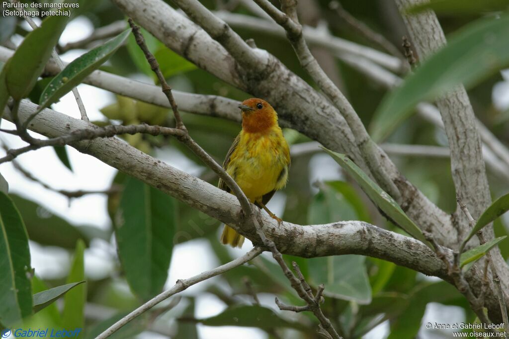
[[[274,126],[266,133],[241,131],[227,172],[254,203],[264,194],[285,187],[289,163],[288,144],[281,129]]]

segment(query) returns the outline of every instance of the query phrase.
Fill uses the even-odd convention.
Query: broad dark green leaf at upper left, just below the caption
[[[16,49],[7,66],[7,89],[16,100],[26,97],[41,75],[67,23],[66,16],[48,16]]]

